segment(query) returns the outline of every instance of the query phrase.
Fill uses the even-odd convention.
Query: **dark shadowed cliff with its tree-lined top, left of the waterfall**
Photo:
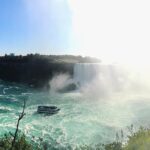
[[[33,87],[48,87],[48,81],[54,74],[73,75],[75,63],[99,61],[96,58],[72,55],[5,55],[0,57],[0,79]]]

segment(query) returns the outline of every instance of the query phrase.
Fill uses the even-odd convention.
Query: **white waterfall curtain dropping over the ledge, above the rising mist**
[[[91,83],[94,80],[97,82],[116,84],[124,78],[118,66],[102,65],[99,63],[77,63],[74,66],[74,81],[80,86]],[[115,83],[114,83],[115,82]]]

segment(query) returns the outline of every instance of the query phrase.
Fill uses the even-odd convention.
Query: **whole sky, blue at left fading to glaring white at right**
[[[148,0],[0,0],[0,54],[149,63]]]

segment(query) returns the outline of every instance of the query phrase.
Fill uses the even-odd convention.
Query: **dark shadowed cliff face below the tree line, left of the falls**
[[[25,83],[33,87],[48,86],[54,74],[73,74],[73,64],[39,63],[39,61],[26,63],[0,63],[0,79]]]

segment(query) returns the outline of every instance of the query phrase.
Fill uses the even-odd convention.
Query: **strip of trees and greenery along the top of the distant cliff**
[[[11,63],[25,63],[33,61],[52,62],[52,63],[98,63],[100,60],[95,57],[82,57],[74,55],[40,55],[40,54],[28,54],[26,56],[15,55],[11,53],[9,55],[0,56],[0,62]]]

